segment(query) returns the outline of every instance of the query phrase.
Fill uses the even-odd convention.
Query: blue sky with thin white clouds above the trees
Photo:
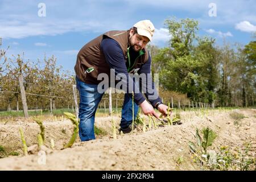
[[[46,5],[40,17],[39,3]],[[209,16],[209,4],[216,5],[217,16]],[[221,45],[249,43],[256,31],[255,1],[188,0],[88,0],[88,1],[0,1],[0,38],[7,55],[24,52],[24,59],[43,60],[55,55],[57,64],[73,72],[79,49],[109,30],[127,30],[143,19],[155,26],[151,44],[163,47],[170,38],[164,20],[199,20],[199,35],[210,35]]]

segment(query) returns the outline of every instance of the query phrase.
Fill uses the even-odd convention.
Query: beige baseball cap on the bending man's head
[[[134,24],[134,27],[137,28],[138,34],[142,36],[146,36],[150,41],[152,40],[152,36],[155,32],[155,27],[150,20],[141,20]]]

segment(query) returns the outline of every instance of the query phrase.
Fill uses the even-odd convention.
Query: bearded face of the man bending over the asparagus
[[[141,49],[146,47],[148,42],[149,39],[146,36],[134,34],[134,30],[130,31],[129,43],[130,46],[134,49],[134,51],[141,51]]]

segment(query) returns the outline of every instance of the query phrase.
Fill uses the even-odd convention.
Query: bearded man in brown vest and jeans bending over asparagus
[[[133,28],[126,31],[109,31],[98,36],[81,48],[77,55],[75,65],[77,89],[80,94],[79,104],[79,135],[81,141],[95,139],[94,117],[97,106],[104,93],[98,92],[97,80],[100,73],[110,75],[110,69],[114,74],[123,74],[127,79],[121,80],[132,92],[125,93],[125,100],[122,107],[122,119],[119,131],[129,133],[132,123],[132,94],[134,93],[134,118],[137,115],[138,107],[141,107],[143,114],[154,115],[159,118],[154,108],[163,115],[167,114],[168,106],[164,105],[154,88],[154,82],[150,81],[146,88],[152,87],[153,92],[145,92],[150,104],[138,91],[129,73],[138,72],[147,74],[147,80],[151,78],[151,57],[146,49],[148,42],[152,40],[155,27],[150,20],[142,20],[134,24]],[[125,86],[124,86],[125,87]],[[156,96],[156,97],[151,97]]]

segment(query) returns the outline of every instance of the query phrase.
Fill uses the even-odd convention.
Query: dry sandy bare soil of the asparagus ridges
[[[234,111],[234,110],[232,110]],[[251,142],[256,150],[256,110],[236,110],[246,118],[240,126],[234,125],[229,113],[232,111],[210,111],[207,117],[197,117],[194,111],[181,113],[182,125],[159,127],[146,133],[117,134],[111,137],[110,117],[96,118],[96,126],[104,128],[108,135],[96,140],[77,143],[72,148],[60,150],[68,142],[73,126],[70,121],[44,122],[46,146],[55,140],[55,150],[46,155],[46,164],[39,162],[38,154],[9,156],[0,159],[0,170],[200,170],[192,162],[188,141],[195,141],[196,128],[210,127],[217,133],[211,148],[220,146],[242,147]],[[119,117],[114,117],[119,124]],[[36,123],[21,122],[18,125],[0,125],[0,145],[8,150],[22,153],[18,127],[22,126],[28,146],[36,144],[39,127]],[[177,159],[184,159],[177,164]],[[256,155],[254,155],[256,156]]]

